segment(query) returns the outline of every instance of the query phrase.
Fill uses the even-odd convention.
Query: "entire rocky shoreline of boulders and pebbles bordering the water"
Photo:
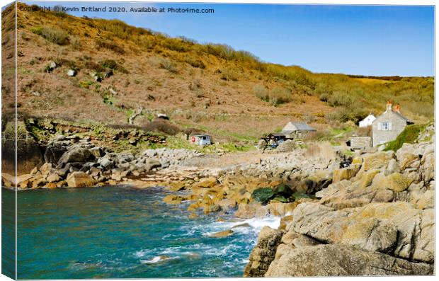
[[[281,217],[278,229],[261,231],[246,277],[433,274],[433,127],[396,153],[357,153],[348,166],[329,144],[279,154],[132,154],[113,153],[78,134],[57,135],[44,159],[18,176],[18,190],[163,186],[174,192],[166,203],[190,201],[189,217]],[[2,174],[4,187],[14,180]],[[261,200],[256,193],[268,195]]]

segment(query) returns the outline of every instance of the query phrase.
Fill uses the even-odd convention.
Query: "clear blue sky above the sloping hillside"
[[[171,36],[227,44],[236,50],[252,52],[265,62],[300,65],[313,72],[434,75],[433,6],[28,1],[34,3],[66,7],[214,8],[215,13],[72,14],[118,18]]]

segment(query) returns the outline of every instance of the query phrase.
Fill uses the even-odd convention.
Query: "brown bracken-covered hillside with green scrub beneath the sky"
[[[6,66],[14,59],[14,38],[7,33],[13,13],[3,15]],[[314,74],[117,20],[18,11],[17,21],[19,110],[36,117],[123,125],[142,107],[135,125],[166,113],[178,127],[243,142],[289,120],[319,129],[357,122],[382,112],[388,99],[415,122],[433,118],[432,77]],[[5,71],[4,101],[13,93]],[[4,112],[10,104],[4,102]]]

